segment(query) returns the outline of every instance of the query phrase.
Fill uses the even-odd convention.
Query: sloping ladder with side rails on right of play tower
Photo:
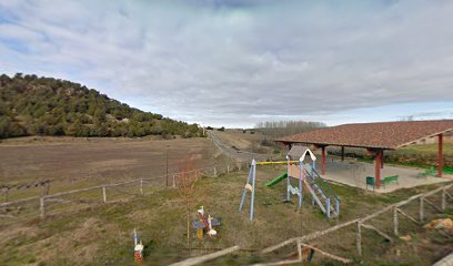
[[[304,185],[312,197],[312,205],[316,204],[329,218],[338,217],[340,215],[340,197],[311,165],[306,164],[304,171],[306,176]]]

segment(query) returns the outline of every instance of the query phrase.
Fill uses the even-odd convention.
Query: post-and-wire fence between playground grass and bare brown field
[[[50,215],[76,212],[108,202],[128,201],[149,194],[150,187],[154,190],[162,190],[168,186],[177,188],[179,186],[179,176],[182,174],[193,174],[197,178],[201,176],[219,177],[224,174],[242,171],[245,167],[248,165],[241,163],[234,165],[211,165],[149,178],[127,180],[77,190],[62,190],[52,194],[47,193],[51,182],[46,182],[46,190],[32,191],[36,193],[33,196],[23,196],[16,201],[8,201],[8,197],[4,197],[4,202],[0,203],[0,222],[3,222],[3,218],[9,222],[37,217],[46,218]],[[162,185],[164,181],[168,182]]]

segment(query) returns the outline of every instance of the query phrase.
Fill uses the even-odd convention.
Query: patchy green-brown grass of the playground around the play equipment
[[[253,250],[285,241],[293,236],[325,229],[335,224],[364,216],[387,204],[404,200],[410,195],[436,187],[436,185],[412,190],[401,190],[392,194],[374,195],[349,186],[333,185],[341,196],[342,214],[339,219],[326,219],[318,208],[312,208],[305,200],[303,208],[293,203],[283,203],[284,185],[265,188],[264,183],[284,172],[283,167],[263,166],[258,171],[255,219],[249,222],[245,205],[238,213],[240,195],[246,172],[220,177],[203,177],[195,183],[191,218],[197,207],[204,205],[209,214],[219,217],[222,225],[215,239],[198,241],[190,231],[188,244],[185,208],[178,190],[147,186],[145,195],[109,197],[109,203],[100,203],[100,194],[88,193],[84,202],[73,206],[73,213],[59,213],[68,207],[57,204],[49,208],[44,221],[38,218],[4,223],[0,231],[1,265],[133,265],[132,231],[135,227],[145,245],[144,265],[167,265],[180,259],[240,245],[249,252],[219,258],[207,265],[238,265],[285,258],[294,248],[282,249],[271,256],[260,256]],[[132,187],[137,191],[137,187]],[[127,194],[128,193],[128,194]],[[127,195],[128,201],[125,201]],[[439,203],[439,198],[431,198]],[[293,201],[295,203],[295,198]],[[72,205],[71,205],[72,206]],[[450,205],[452,206],[452,205]],[[83,207],[82,209],[79,209]],[[79,211],[78,211],[79,209]],[[416,217],[416,202],[404,209]],[[450,216],[452,209],[450,208]],[[427,219],[439,216],[426,207]],[[4,219],[3,219],[4,221]],[[373,225],[391,234],[391,214],[373,219]],[[354,227],[322,237],[311,244],[345,257],[355,256]],[[391,246],[372,232],[364,232],[364,257],[366,265],[430,265],[452,250],[447,236],[427,232],[401,219],[401,234],[410,234],[412,241],[395,239]],[[450,236],[451,237],[451,236]],[[415,252],[416,250],[416,252]],[[315,263],[334,265],[315,255]]]

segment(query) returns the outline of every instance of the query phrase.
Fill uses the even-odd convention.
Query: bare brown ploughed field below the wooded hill
[[[192,158],[194,168],[213,164],[215,150],[207,139],[24,137],[0,143],[0,184],[38,180],[99,184],[161,176],[167,146],[170,173],[180,168],[181,160]]]

